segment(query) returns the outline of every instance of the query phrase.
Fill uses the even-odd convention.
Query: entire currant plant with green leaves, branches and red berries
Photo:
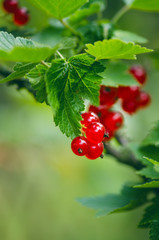
[[[74,154],[95,160],[104,152],[137,170],[141,182],[125,184],[121,194],[79,202],[98,216],[148,203],[139,227],[150,228],[150,239],[158,240],[159,122],[139,146],[118,132],[125,113],[135,114],[151,103],[142,89],[148,79],[145,67],[129,60],[153,50],[139,45],[145,38],[120,29],[118,20],[131,9],[159,11],[159,1],[124,0],[111,20],[104,18],[104,0],[26,2],[40,15],[38,26],[17,0],[0,1],[0,84],[24,88],[50,106]]]

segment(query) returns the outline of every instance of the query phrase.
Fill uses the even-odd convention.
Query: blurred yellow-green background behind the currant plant
[[[108,1],[105,17],[111,18],[120,6],[122,1]],[[145,36],[147,46],[157,49],[158,17],[131,10],[119,25]],[[152,104],[135,116],[125,115],[122,132],[136,143],[159,115],[158,64],[145,55],[137,62],[148,69],[145,89]],[[0,86],[0,239],[148,239],[148,232],[136,227],[143,209],[98,219],[76,201],[119,192],[125,182],[138,181],[134,170],[108,156],[96,161],[78,158],[70,142],[55,128],[50,108],[37,104],[26,91]]]

